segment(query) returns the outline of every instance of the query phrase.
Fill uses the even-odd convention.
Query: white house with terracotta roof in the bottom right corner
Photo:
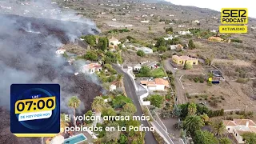
[[[238,143],[245,143],[242,134],[246,132],[256,133],[256,123],[250,119],[224,120],[228,133],[233,134]]]

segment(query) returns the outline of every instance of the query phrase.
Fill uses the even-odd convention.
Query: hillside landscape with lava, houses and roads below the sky
[[[161,0],[0,0],[0,144],[255,144],[256,18],[221,25]],[[10,132],[14,83],[61,86],[59,134]]]

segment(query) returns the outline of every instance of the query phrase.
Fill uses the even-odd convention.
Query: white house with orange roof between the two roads
[[[143,86],[146,86],[148,90],[165,90],[169,88],[169,82],[163,78],[154,78],[153,80],[141,81]]]

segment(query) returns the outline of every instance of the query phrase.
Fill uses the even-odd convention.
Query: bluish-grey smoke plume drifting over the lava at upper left
[[[62,111],[69,110],[66,105],[73,95],[88,101],[78,111],[88,109],[100,86],[86,81],[88,75],[74,76],[74,67],[55,51],[82,34],[95,33],[94,22],[50,1],[0,2],[0,106],[10,107],[13,83],[59,83]]]

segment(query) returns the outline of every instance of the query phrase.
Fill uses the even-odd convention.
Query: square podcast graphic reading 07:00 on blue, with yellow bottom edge
[[[58,84],[10,86],[10,130],[18,137],[51,137],[60,131]]]

